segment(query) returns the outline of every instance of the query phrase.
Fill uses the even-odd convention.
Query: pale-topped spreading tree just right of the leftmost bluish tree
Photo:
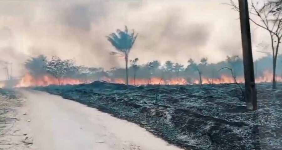
[[[79,67],[75,66],[73,59],[61,60],[59,57],[53,56],[44,67],[47,73],[54,76],[59,85],[64,84],[64,78],[78,72]]]

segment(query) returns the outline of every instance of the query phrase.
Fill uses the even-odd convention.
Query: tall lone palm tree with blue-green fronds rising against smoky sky
[[[117,29],[116,33],[111,33],[107,36],[107,40],[111,42],[117,52],[112,52],[111,54],[121,54],[125,59],[125,70],[126,70],[126,84],[128,85],[128,54],[137,38],[134,30],[132,33],[128,32],[127,27],[125,26],[124,31]]]

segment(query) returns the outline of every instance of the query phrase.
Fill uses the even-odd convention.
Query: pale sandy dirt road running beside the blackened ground
[[[38,150],[180,150],[134,123],[39,91],[20,91]]]

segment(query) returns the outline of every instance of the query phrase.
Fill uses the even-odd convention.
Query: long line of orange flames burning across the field
[[[102,77],[100,80],[107,81],[109,83],[122,83],[125,84],[126,81],[124,78],[115,78],[111,79],[108,77]],[[219,78],[201,78],[202,84],[220,84],[220,83],[234,83],[234,79],[232,76],[222,74]],[[81,84],[81,83],[90,83],[93,80],[88,79],[75,79],[75,78],[65,78],[63,80],[62,85],[65,84]],[[236,81],[238,83],[244,83],[243,77],[237,77]],[[263,76],[258,77],[255,79],[256,83],[263,83],[263,82],[272,82],[272,73],[270,71],[264,71]],[[276,76],[277,82],[282,82],[282,76]],[[152,78],[136,78],[134,82],[134,78],[129,78],[128,82],[130,85],[186,85],[186,84],[199,84],[199,79],[192,79],[191,81],[186,80],[185,78],[171,78],[169,80],[164,80],[163,78],[159,77],[152,77]],[[30,87],[30,86],[48,86],[51,84],[59,85],[59,81],[50,75],[44,75],[42,78],[34,78],[29,73],[26,73],[23,78],[21,78],[18,84],[15,87]],[[4,87],[4,84],[0,84],[0,88]]]

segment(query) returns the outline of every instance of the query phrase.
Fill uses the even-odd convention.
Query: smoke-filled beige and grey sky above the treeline
[[[123,67],[123,58],[109,55],[114,48],[105,36],[127,25],[138,32],[129,57],[139,63],[186,65],[189,58],[202,57],[216,63],[242,55],[238,12],[224,2],[229,0],[1,0],[0,60],[13,63],[14,75],[24,72],[27,58],[40,54]],[[254,58],[259,58],[263,54],[256,50],[262,47],[256,45],[269,37],[255,26],[252,35]]]

